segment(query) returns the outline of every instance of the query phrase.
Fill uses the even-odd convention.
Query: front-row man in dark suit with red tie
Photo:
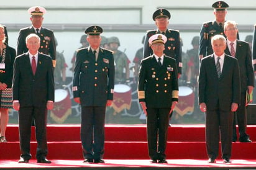
[[[40,38],[30,34],[25,39],[29,51],[16,57],[12,83],[13,108],[19,110],[19,138],[21,159],[29,163],[30,130],[34,120],[37,136],[37,163],[51,163],[46,159],[47,109],[53,109],[54,79],[52,58],[39,53]]]

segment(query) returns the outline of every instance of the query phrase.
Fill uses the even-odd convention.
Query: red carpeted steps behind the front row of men
[[[256,141],[256,125],[247,132]],[[80,125],[48,125],[48,159],[83,159]],[[17,125],[8,125],[7,143],[0,143],[0,159],[19,159]],[[31,137],[35,159],[34,127]],[[106,125],[104,159],[149,159],[145,125]],[[232,159],[256,159],[256,142],[232,145]],[[2,154],[4,153],[4,154]],[[167,159],[207,159],[204,125],[172,125],[168,130]],[[219,157],[221,159],[221,157]]]

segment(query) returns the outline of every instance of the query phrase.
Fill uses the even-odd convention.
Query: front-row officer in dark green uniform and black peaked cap
[[[74,101],[81,104],[81,143],[84,163],[104,163],[104,122],[106,106],[114,93],[114,56],[99,47],[103,29],[93,25],[85,30],[89,47],[76,53],[73,75]]]

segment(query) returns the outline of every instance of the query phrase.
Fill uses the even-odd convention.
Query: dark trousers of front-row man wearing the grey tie
[[[206,150],[209,158],[216,159],[219,154],[220,131],[222,158],[231,158],[233,114],[231,111],[206,111]]]

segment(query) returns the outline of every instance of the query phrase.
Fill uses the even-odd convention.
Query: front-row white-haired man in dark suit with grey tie
[[[219,132],[224,163],[231,163],[232,123],[240,103],[240,76],[237,59],[226,55],[226,38],[214,35],[214,53],[201,60],[198,79],[200,110],[206,114],[206,149],[209,163],[216,163]]]

